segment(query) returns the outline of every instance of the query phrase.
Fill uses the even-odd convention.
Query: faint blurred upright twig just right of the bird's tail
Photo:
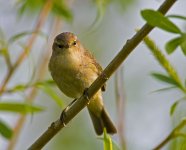
[[[116,93],[116,104],[117,104],[117,116],[118,116],[118,136],[122,150],[126,150],[126,141],[124,137],[124,81],[123,81],[123,66],[116,71],[115,76],[115,93]]]

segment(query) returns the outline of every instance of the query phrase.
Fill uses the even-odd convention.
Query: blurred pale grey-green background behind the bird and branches
[[[26,10],[22,10],[20,14],[19,8],[24,2],[26,1],[7,0],[5,2],[0,0],[0,28],[6,39],[21,32],[33,31],[35,27],[41,10],[40,6],[38,6],[37,1],[32,1],[33,6],[31,8],[26,7]],[[49,49],[51,54],[51,42],[54,36],[64,31],[75,33],[84,46],[95,55],[103,68],[106,67],[126,40],[135,34],[135,29],[145,23],[140,16],[140,11],[145,8],[157,9],[163,0],[110,0],[105,1],[103,5],[99,4],[99,1],[93,0],[63,2],[66,5],[64,8],[68,8],[70,11],[56,11],[56,14],[63,13],[63,15],[58,14],[56,17],[56,14],[51,13],[48,16],[41,27],[44,36],[37,36],[29,57],[17,69],[7,87],[27,83],[32,78],[33,72],[41,64],[45,51]],[[32,10],[32,8],[36,7],[34,3],[38,6],[37,10]],[[43,4],[45,1],[41,1],[41,3]],[[186,1],[178,1],[170,10],[170,13],[186,14],[186,9],[183,6],[186,6]],[[51,37],[53,23],[56,20],[60,22],[60,25],[56,33],[53,33],[54,35]],[[186,29],[183,22],[177,20],[175,22],[183,29]],[[19,44],[26,43],[29,36],[24,36],[17,43],[10,45],[9,50],[13,62],[22,51]],[[171,34],[159,29],[155,29],[150,36],[161,49],[164,49],[165,42],[171,38]],[[184,78],[186,75],[185,56],[181,51],[176,51],[168,58],[174,64],[179,75]],[[154,80],[150,73],[162,71],[162,68],[154,60],[144,44],[140,44],[136,48],[123,66],[124,83],[122,84],[124,85],[125,102],[122,122],[127,149],[149,150],[159,144],[172,131],[172,128],[179,123],[180,119],[185,116],[184,105],[186,104],[179,106],[175,115],[170,117],[170,107],[180,97],[180,92],[153,93],[153,91],[164,87],[164,84]],[[7,68],[4,59],[0,57],[0,81],[3,81],[6,72]],[[44,79],[51,79],[48,70]],[[103,96],[106,108],[115,124],[117,124],[114,87],[114,77],[111,77],[107,82],[107,90],[103,93]],[[66,106],[70,102],[69,98],[64,96],[57,87],[54,87],[54,90],[63,100],[64,106]],[[28,93],[29,90],[5,94],[1,96],[1,100],[23,101]],[[61,113],[60,107],[42,90],[39,90],[34,104],[43,106],[45,111],[26,117],[26,123],[21,129],[15,150],[28,148],[52,121],[58,119]],[[5,120],[11,127],[16,124],[18,116],[12,113],[0,114],[0,118]],[[114,135],[113,140],[119,145],[118,135]],[[8,140],[0,137],[0,141],[0,149],[7,149]],[[175,140],[171,145],[166,145],[164,149],[175,149],[177,143],[179,143],[178,140]],[[103,142],[95,135],[88,112],[84,109],[44,149],[95,150],[103,149]]]

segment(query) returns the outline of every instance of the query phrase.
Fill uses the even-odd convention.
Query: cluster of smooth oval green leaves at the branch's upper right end
[[[168,54],[173,53],[177,47],[180,47],[183,54],[186,55],[186,32],[181,31],[181,29],[173,23],[169,18],[177,18],[185,20],[184,16],[171,15],[168,17],[163,16],[160,12],[156,12],[151,9],[146,9],[141,11],[141,15],[147,21],[148,24],[158,27],[167,32],[179,35],[176,38],[169,40],[165,44],[165,49]]]

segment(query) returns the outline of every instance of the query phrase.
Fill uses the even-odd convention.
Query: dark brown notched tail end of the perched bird
[[[117,133],[117,130],[110,120],[108,113],[103,108],[100,116],[97,116],[94,112],[92,112],[90,109],[89,114],[92,119],[94,129],[98,135],[101,135],[103,133],[103,129],[106,128],[107,133],[109,134],[115,134]]]

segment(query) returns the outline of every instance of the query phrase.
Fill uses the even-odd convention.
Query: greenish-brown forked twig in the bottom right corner
[[[185,137],[185,134],[180,133],[180,130],[186,125],[186,119],[182,120],[182,122],[174,128],[174,130],[153,150],[160,150],[163,146],[165,146],[170,140],[176,137]]]

